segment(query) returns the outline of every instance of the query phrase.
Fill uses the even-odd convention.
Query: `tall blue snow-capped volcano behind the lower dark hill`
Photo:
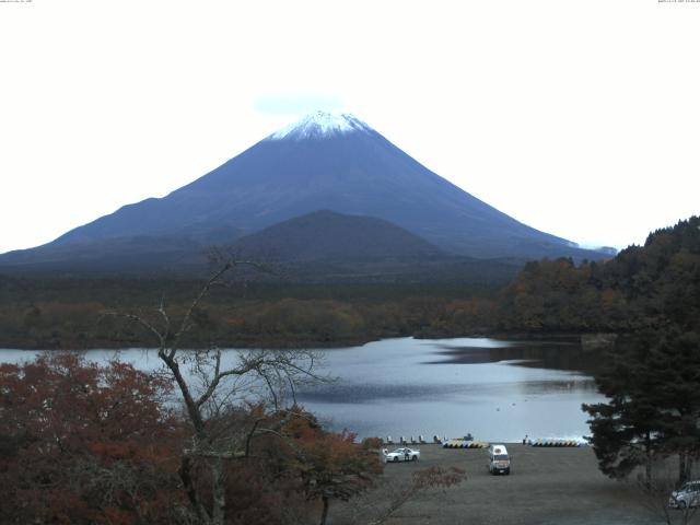
[[[319,210],[388,222],[451,256],[605,256],[502,213],[357,117],[317,112],[166,197],[127,205],[51,243],[4,254],[0,266],[173,268],[196,260],[207,246],[232,245]],[[368,230],[366,221],[357,228]]]

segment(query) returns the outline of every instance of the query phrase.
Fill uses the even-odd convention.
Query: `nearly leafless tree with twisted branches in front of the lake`
[[[279,435],[284,424],[287,399],[294,401],[298,385],[323,381],[316,373],[317,355],[304,350],[246,350],[225,354],[221,349],[184,350],[184,336],[192,329],[192,315],[224,276],[242,265],[260,267],[248,261],[229,260],[203,284],[178,323],[168,315],[164,302],[155,318],[138,314],[112,313],[143,327],[158,343],[158,357],[165,372],[177,384],[184,409],[191,424],[191,442],[183,450],[179,476],[187,498],[200,523],[222,525],[226,511],[226,462],[250,456],[252,440],[261,434]],[[270,410],[242,423],[235,412],[245,401],[266,400]],[[270,417],[270,416],[277,417]],[[249,419],[249,418],[248,418]],[[269,423],[269,424],[268,424]],[[195,466],[208,471],[209,491],[197,483]],[[197,469],[200,472],[201,469]]]

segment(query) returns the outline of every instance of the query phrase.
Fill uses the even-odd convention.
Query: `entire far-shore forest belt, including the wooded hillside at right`
[[[700,219],[650,233],[606,261],[530,261],[510,282],[270,282],[232,278],[195,312],[190,347],[323,347],[385,337],[631,334],[700,316]],[[249,276],[247,272],[246,276]],[[0,346],[143,345],[108,311],[183,312],[192,279],[0,277]]]

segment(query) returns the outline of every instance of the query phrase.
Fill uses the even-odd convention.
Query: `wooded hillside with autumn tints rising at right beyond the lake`
[[[604,262],[529,262],[503,292],[505,330],[700,329],[700,218],[650,233]]]

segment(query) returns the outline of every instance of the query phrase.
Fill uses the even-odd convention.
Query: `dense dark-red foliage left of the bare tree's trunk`
[[[182,433],[170,384],[74,353],[0,365],[5,523],[172,523]]]

